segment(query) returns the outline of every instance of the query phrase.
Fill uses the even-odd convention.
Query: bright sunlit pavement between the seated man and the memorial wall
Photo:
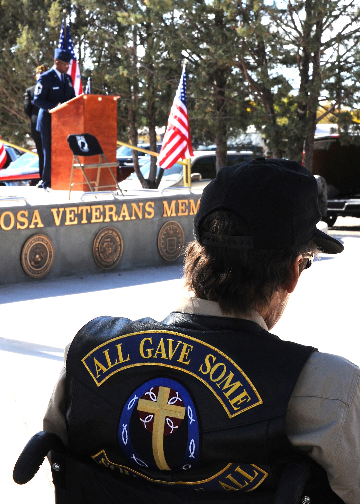
[[[339,218],[330,232],[343,240],[344,253],[324,256],[304,272],[272,332],[359,364],[360,219]],[[169,266],[0,289],[1,502],[53,502],[47,462],[25,486],[11,475],[27,440],[42,428],[64,347],[77,330],[103,314],[161,320],[181,297],[182,285],[181,270]]]

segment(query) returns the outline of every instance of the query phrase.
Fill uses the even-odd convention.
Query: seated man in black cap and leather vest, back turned
[[[298,163],[224,167],[194,219],[189,296],[160,323],[100,317],[79,331],[44,418],[99,471],[90,500],[85,466],[68,476],[77,502],[270,503],[296,463],[311,469],[298,501],[358,504],[359,368],[268,332],[314,253],[343,250],[319,219]]]

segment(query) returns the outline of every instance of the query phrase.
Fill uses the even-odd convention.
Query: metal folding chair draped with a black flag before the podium
[[[71,190],[73,188],[73,185],[78,185],[78,184],[83,184],[84,182],[73,182],[73,177],[74,177],[74,170],[81,170],[83,172],[84,178],[90,188],[91,192],[98,191],[101,188],[104,187],[112,187],[111,185],[99,185],[100,182],[100,171],[102,168],[108,168],[109,172],[111,173],[111,176],[114,180],[115,186],[117,189],[121,192],[121,194],[124,196],[123,191],[121,190],[111,168],[117,167],[117,162],[114,163],[109,163],[106,159],[106,156],[103,152],[103,150],[100,147],[100,144],[97,140],[96,137],[93,135],[90,135],[90,133],[82,133],[79,135],[68,135],[68,143],[70,146],[70,149],[72,150],[73,153],[73,163],[71,166],[71,175],[70,175],[70,186],[69,186],[69,200],[70,200],[70,194]],[[80,163],[79,156],[99,156],[99,162],[98,163]],[[85,169],[88,168],[97,168],[97,176],[96,176],[96,181],[94,180],[89,180],[85,173]],[[93,184],[93,185],[92,185]]]

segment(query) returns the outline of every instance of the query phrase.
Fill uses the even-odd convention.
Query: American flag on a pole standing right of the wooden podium
[[[170,168],[179,159],[189,159],[191,156],[194,156],[194,152],[186,106],[186,66],[184,65],[157,164],[160,168]]]

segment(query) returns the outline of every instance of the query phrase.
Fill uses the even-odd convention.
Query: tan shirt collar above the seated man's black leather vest
[[[243,319],[255,322],[260,327],[269,331],[264,319],[256,310],[250,310],[249,314],[238,313],[236,317],[231,314],[225,314],[221,311],[219,303],[216,301],[208,301],[198,297],[186,296],[183,297],[179,305],[173,311],[183,313],[194,313],[195,315],[204,315],[208,317],[224,317],[230,319]]]

